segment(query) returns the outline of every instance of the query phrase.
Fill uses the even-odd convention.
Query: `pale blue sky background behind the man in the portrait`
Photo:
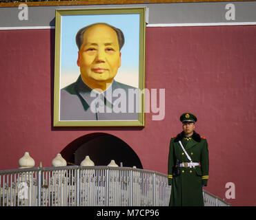
[[[121,49],[121,67],[115,80],[139,87],[139,14],[92,14],[61,16],[60,87],[77,80],[77,32],[92,23],[104,22],[121,29],[125,43]]]

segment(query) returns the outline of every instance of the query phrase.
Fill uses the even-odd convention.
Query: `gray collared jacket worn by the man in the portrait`
[[[139,100],[129,95],[134,91],[138,93],[135,87],[113,80],[106,91],[95,93],[79,76],[61,89],[60,120],[138,120]]]

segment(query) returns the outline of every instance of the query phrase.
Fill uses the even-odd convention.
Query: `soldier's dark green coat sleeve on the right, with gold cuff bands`
[[[207,186],[209,179],[209,155],[208,155],[208,143],[204,140],[204,146],[201,152],[201,181],[204,186]]]

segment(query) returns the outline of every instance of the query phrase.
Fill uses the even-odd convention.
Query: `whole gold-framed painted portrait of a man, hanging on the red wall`
[[[144,126],[145,17],[56,10],[54,126]]]

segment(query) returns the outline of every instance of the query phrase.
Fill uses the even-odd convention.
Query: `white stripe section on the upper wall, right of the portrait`
[[[153,27],[194,27],[194,26],[226,26],[226,25],[256,25],[256,22],[219,22],[219,23],[150,23],[148,28]]]

